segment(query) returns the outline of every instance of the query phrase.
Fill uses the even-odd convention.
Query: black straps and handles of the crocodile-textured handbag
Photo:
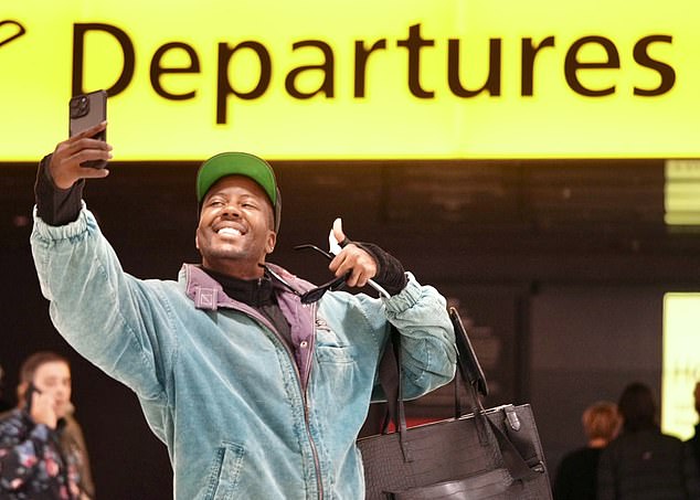
[[[481,369],[469,337],[462,323],[462,319],[455,308],[449,308],[449,319],[455,329],[455,340],[457,345],[457,364],[458,370],[455,374],[455,384],[463,382],[468,387],[471,400],[471,409],[475,417],[475,424],[479,435],[479,440],[484,446],[496,445],[495,448],[503,459],[503,465],[513,479],[530,479],[539,474],[527,464],[518,448],[510,438],[495,425],[487,416],[481,404],[479,394],[488,395],[488,385],[486,376]],[[389,422],[393,421],[399,440],[403,451],[405,461],[413,461],[411,451],[411,442],[407,436],[405,406],[403,402],[403,382],[401,376],[401,334],[396,328],[391,326],[391,333],[384,348],[384,353],[380,360],[379,380],[386,396],[388,418],[382,425],[382,434],[388,434]],[[456,418],[462,416],[459,408],[458,385],[455,389],[455,408]],[[495,437],[489,439],[488,432]]]

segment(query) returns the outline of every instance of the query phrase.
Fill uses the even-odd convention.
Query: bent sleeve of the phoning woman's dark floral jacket
[[[21,436],[23,433],[23,426],[14,417],[0,422],[0,493],[19,490],[39,474],[51,429],[42,424],[29,436]],[[18,438],[22,440],[18,443]]]

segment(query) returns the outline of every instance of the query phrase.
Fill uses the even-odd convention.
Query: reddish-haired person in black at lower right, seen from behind
[[[554,500],[596,500],[598,459],[619,430],[617,405],[608,401],[592,404],[583,412],[581,424],[586,446],[562,458],[554,477]]]

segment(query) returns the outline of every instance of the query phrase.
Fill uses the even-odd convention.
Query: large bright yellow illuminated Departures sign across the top
[[[694,0],[22,0],[0,161],[106,88],[118,160],[700,157]]]

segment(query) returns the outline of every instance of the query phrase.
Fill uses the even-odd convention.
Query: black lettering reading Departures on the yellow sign
[[[24,26],[15,21],[1,21],[0,26],[12,24],[18,30],[12,31],[9,38],[2,40],[0,38],[0,46],[24,34]],[[330,43],[324,40],[298,40],[291,42],[293,57],[300,51],[315,50],[319,56],[318,64],[310,65],[294,65],[294,61],[290,58],[282,58],[285,71],[287,72],[284,79],[277,79],[276,82],[284,82],[284,89],[286,94],[293,99],[309,99],[315,96],[321,98],[332,99],[336,97],[336,74],[337,67],[342,64],[349,65],[351,72],[344,71],[346,67],[341,67],[342,71],[338,71],[339,75],[352,76],[352,98],[362,99],[367,97],[368,88],[370,87],[372,73],[368,71],[368,64],[370,56],[372,58],[381,58],[386,61],[389,57],[397,57],[397,53],[402,53],[403,49],[406,50],[406,72],[407,85],[411,95],[418,99],[433,99],[435,98],[436,91],[427,89],[423,85],[421,79],[424,76],[424,68],[426,62],[429,61],[431,67],[435,67],[436,61],[445,63],[445,68],[437,75],[443,78],[443,87],[449,89],[452,95],[458,98],[468,99],[474,98],[480,94],[487,94],[490,98],[498,98],[501,96],[503,84],[506,88],[515,88],[509,86],[508,83],[515,83],[513,79],[520,77],[520,96],[531,97],[535,94],[534,81],[535,81],[535,60],[538,62],[538,71],[547,72],[548,76],[552,75],[552,66],[556,68],[562,66],[562,53],[558,51],[558,45],[553,35],[544,36],[541,42],[533,42],[531,38],[520,39],[520,67],[516,64],[503,66],[503,54],[508,54],[508,47],[506,41],[502,38],[489,39],[489,55],[488,61],[467,61],[463,55],[466,42],[462,39],[445,39],[434,40],[423,38],[421,34],[421,23],[413,24],[409,28],[409,34],[405,39],[397,39],[395,46],[391,46],[388,39],[380,38],[373,42],[365,40],[353,40],[354,51],[352,55],[346,60],[337,60],[333,47]],[[124,65],[119,70],[116,82],[108,88],[106,88],[109,96],[115,96],[123,93],[131,83],[135,74],[136,65],[136,51],[135,45],[129,35],[121,29],[104,23],[76,23],[73,26],[73,73],[72,73],[72,92],[73,94],[82,94],[88,89],[84,88],[85,76],[85,39],[86,34],[91,32],[102,32],[110,35],[119,44],[121,54],[124,56]],[[7,34],[7,31],[6,31]],[[644,68],[655,72],[659,76],[659,83],[653,88],[641,88],[639,86],[634,87],[634,95],[641,97],[655,97],[667,94],[674,88],[676,84],[676,71],[674,67],[665,61],[661,61],[658,56],[650,55],[654,46],[658,44],[670,45],[672,38],[664,34],[651,34],[640,38],[634,45],[633,54],[634,62]],[[603,51],[603,55],[598,55],[597,58],[583,53],[583,50],[588,46],[600,47]],[[424,51],[424,49],[431,49]],[[544,49],[550,49],[544,52]],[[615,75],[617,73],[611,72],[611,70],[619,70],[622,67],[621,54],[615,43],[602,35],[588,35],[575,40],[569,49],[565,50],[563,56],[563,70],[566,84],[574,93],[591,97],[598,98],[615,94],[617,91],[615,85]],[[167,65],[166,57],[168,54],[174,51],[183,53],[187,56],[187,61],[180,66]],[[247,51],[247,52],[244,52]],[[254,74],[252,82],[253,85],[250,88],[241,88],[241,82],[233,81],[230,73],[235,64],[235,55],[240,53],[252,53],[256,57],[259,64],[259,73]],[[378,55],[379,54],[379,55]],[[623,54],[624,55],[624,54]],[[237,97],[243,100],[253,100],[261,98],[268,91],[273,83],[273,57],[269,50],[261,42],[255,40],[246,40],[237,44],[230,44],[229,42],[218,42],[216,51],[216,64],[202,65],[200,63],[200,56],[198,54],[198,47],[180,41],[170,41],[159,46],[149,61],[149,77],[150,85],[153,92],[168,100],[187,100],[197,96],[198,88],[188,89],[188,92],[176,93],[171,89],[167,89],[163,81],[167,81],[166,75],[174,74],[200,74],[202,67],[211,67],[212,72],[215,67],[215,74],[210,74],[210,81],[204,83],[204,88],[216,88],[216,105],[215,105],[215,121],[216,124],[229,124],[229,102],[230,97]],[[373,63],[379,64],[379,61]],[[488,64],[488,66],[486,66]],[[288,68],[290,66],[290,68]],[[486,71],[482,68],[486,67]],[[625,61],[625,68],[628,70],[627,62]],[[518,75],[519,71],[519,75]],[[601,72],[608,71],[612,75],[612,82],[609,85],[603,88],[591,88],[582,83],[580,74],[583,72]],[[308,74],[319,74],[318,84],[308,84],[307,81],[301,81],[301,76]],[[142,72],[139,72],[141,74]],[[485,75],[484,79],[474,82],[473,75]],[[382,77],[385,73],[382,73]],[[429,75],[431,82],[439,84],[436,81],[436,75]],[[376,78],[378,76],[375,76]],[[245,79],[251,81],[250,78]],[[215,84],[214,84],[215,82]],[[469,85],[467,84],[469,83]],[[482,82],[482,83],[481,83]],[[344,88],[344,87],[342,87]],[[439,87],[438,87],[439,88]],[[442,89],[441,89],[442,91]],[[516,91],[517,92],[517,91]]]

